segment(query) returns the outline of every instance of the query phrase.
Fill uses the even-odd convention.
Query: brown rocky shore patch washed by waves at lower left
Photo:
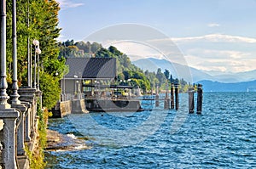
[[[45,150],[72,151],[77,149],[90,149],[90,147],[84,143],[84,140],[75,138],[72,134],[65,135],[47,129],[47,147]]]

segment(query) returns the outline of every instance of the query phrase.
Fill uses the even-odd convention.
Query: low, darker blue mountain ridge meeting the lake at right
[[[256,81],[233,83],[201,81],[198,83],[203,85],[205,92],[256,92]]]

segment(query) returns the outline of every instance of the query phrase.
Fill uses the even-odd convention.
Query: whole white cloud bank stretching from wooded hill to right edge
[[[256,38],[223,34],[210,34],[201,37],[163,38],[141,42],[108,42],[131,57],[169,59],[182,65],[200,70],[241,72],[254,70]],[[109,45],[108,44],[108,45]],[[158,48],[161,47],[161,48]],[[165,54],[165,56],[163,56]]]

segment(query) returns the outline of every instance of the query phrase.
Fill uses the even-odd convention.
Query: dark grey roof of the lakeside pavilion
[[[116,76],[114,58],[67,58],[69,72],[65,78],[106,79]]]

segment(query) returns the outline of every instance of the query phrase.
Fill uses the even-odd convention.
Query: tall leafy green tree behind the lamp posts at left
[[[11,8],[12,3],[7,1],[7,65],[8,65],[8,82],[11,83],[12,72],[12,38],[11,38]],[[27,13],[29,8],[29,14]],[[47,82],[45,88],[44,82],[40,81],[41,90],[43,91],[43,101],[48,97],[52,99],[50,104],[44,104],[47,108],[51,108],[59,99],[60,93],[52,93],[50,90],[59,91],[55,82],[58,82],[63,75],[65,69],[64,61],[58,59],[59,48],[56,38],[59,37],[61,29],[58,27],[58,12],[60,10],[59,3],[55,0],[19,0],[17,1],[17,55],[18,55],[18,81],[20,85],[27,85],[27,38],[30,37],[31,44],[33,39],[40,42],[40,67],[42,76],[49,75],[53,79]],[[29,18],[27,18],[29,16]],[[27,26],[29,21],[29,26]],[[32,54],[34,48],[32,47]],[[58,65],[58,66],[56,66]],[[58,72],[58,76],[56,75]],[[11,86],[9,84],[9,86]],[[57,87],[57,88],[56,88]]]

